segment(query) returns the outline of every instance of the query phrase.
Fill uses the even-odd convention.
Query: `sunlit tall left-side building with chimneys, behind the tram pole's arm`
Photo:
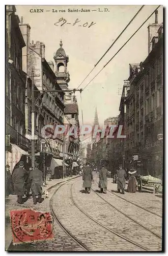
[[[22,49],[23,54],[23,70],[31,78],[34,84],[35,99],[43,91],[58,90],[59,92],[46,92],[36,102],[36,117],[35,117],[35,133],[38,135],[36,141],[36,158],[44,159],[41,168],[50,165],[51,158],[61,158],[60,153],[63,152],[63,134],[58,134],[54,138],[54,129],[56,125],[64,124],[64,92],[57,83],[57,77],[54,73],[53,62],[47,62],[45,59],[45,45],[43,42],[30,42],[31,27],[29,24],[21,22],[19,24],[21,33],[24,37],[25,47]],[[30,79],[29,78],[29,79]],[[32,109],[32,84],[27,79],[26,87],[26,104],[25,104],[25,124],[26,136],[31,134],[31,109]],[[46,127],[45,135],[50,138],[46,139],[41,131],[45,125],[53,125],[53,129]],[[44,143],[45,139],[45,143]]]

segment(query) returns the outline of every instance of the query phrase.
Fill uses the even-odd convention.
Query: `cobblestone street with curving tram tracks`
[[[117,190],[117,184],[110,178],[107,194],[100,194],[97,182],[97,174],[94,174],[91,194],[88,195],[83,193],[81,176],[70,181],[66,179],[50,189],[49,198],[43,203],[37,206],[33,202],[28,206],[30,200],[24,203],[20,208],[51,212],[54,238],[32,244],[11,243],[9,250],[160,251],[162,198],[146,190],[135,194],[111,194],[110,191]],[[15,205],[15,209],[18,208]]]

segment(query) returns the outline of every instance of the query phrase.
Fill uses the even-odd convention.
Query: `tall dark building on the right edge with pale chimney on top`
[[[163,25],[157,23],[157,11],[148,33],[149,55],[128,78],[127,150],[129,161],[132,155],[138,155],[139,172],[162,178],[163,144],[157,135],[163,134]]]

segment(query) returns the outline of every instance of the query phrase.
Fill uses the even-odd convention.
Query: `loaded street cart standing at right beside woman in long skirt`
[[[153,194],[158,194],[161,190],[162,181],[152,176],[141,176],[137,179],[138,191],[142,191],[142,187],[145,185],[153,185]]]

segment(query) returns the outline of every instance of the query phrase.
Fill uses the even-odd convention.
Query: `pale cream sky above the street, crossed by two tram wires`
[[[37,8],[44,9],[44,12],[30,12],[30,9]],[[68,8],[97,11],[67,12]],[[102,10],[108,8],[109,12],[99,12],[98,8]],[[62,39],[63,48],[69,56],[68,71],[71,79],[69,88],[77,88],[140,8],[141,6],[16,6],[16,14],[19,18],[23,16],[23,23],[28,23],[31,26],[31,41],[44,42],[47,61],[52,60],[54,62],[53,54],[60,47],[60,39]],[[145,6],[142,9],[80,88],[86,86],[156,8],[157,6]],[[52,9],[65,9],[66,12],[52,12]],[[50,12],[46,12],[46,10],[50,10]],[[59,26],[55,26],[54,23],[57,23],[62,17],[71,24],[66,23],[60,26],[63,23],[58,23]],[[77,18],[81,22],[73,26]],[[88,28],[89,25],[83,27],[82,25],[86,22],[89,25],[92,22],[96,24],[90,28]],[[149,24],[154,22],[155,15],[153,14],[120,53],[82,92],[82,103],[80,93],[76,92],[80,124],[81,109],[83,110],[84,124],[93,124],[96,106],[100,124],[103,124],[106,118],[119,114],[121,95],[118,95],[118,88],[122,88],[123,80],[129,77],[129,63],[139,63],[147,57],[147,28]],[[162,22],[162,7],[160,7],[158,9],[158,23]]]

